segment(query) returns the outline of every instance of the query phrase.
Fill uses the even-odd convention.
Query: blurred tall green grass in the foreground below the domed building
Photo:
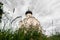
[[[60,40],[60,34],[47,37],[37,29],[22,27],[14,33],[0,30],[0,40]]]

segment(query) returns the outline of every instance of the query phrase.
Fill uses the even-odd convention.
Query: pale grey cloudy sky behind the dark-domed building
[[[50,35],[52,32],[60,31],[60,0],[0,0],[3,5],[4,12],[7,12],[8,18],[17,19],[13,26],[18,24],[17,21],[25,17],[25,12],[29,9],[46,30],[45,34]],[[8,14],[9,13],[9,14]],[[4,17],[3,17],[4,18]],[[14,27],[16,28],[16,27]],[[54,31],[55,30],[55,31]]]

